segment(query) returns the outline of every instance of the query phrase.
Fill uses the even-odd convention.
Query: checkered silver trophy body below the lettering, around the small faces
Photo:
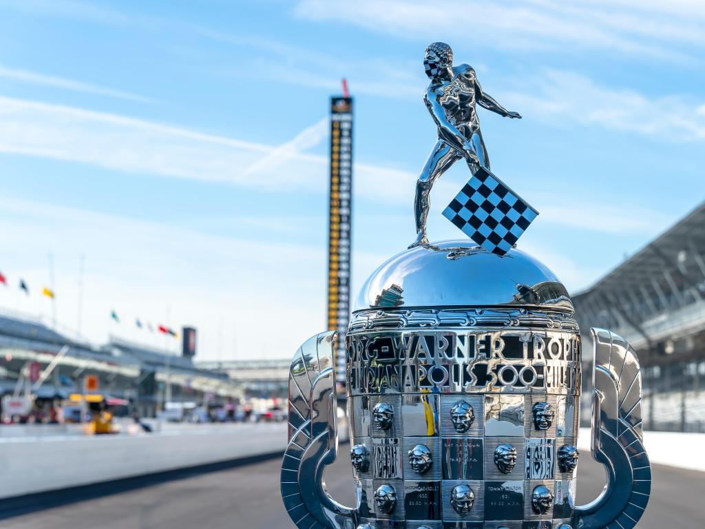
[[[360,519],[369,520],[372,528],[556,529],[561,523],[570,524],[575,472],[560,472],[558,449],[576,441],[575,396],[535,391],[374,394],[353,399],[357,399],[353,411],[364,417],[353,421],[356,429],[370,434],[353,437],[369,451],[369,470],[355,472],[357,509]],[[475,414],[472,426],[462,434],[450,420],[459,401],[471,403]],[[384,434],[374,431],[371,412],[378,403],[388,403],[395,411],[390,431]],[[536,425],[537,403],[548,405],[541,406],[550,421],[545,430]],[[408,458],[417,444],[431,454],[432,463],[423,473],[413,470]],[[516,451],[515,466],[508,474],[494,461],[501,444]],[[392,513],[384,513],[375,504],[374,492],[381,485],[391,485],[396,492]],[[467,513],[456,511],[450,502],[457,485],[470,487],[474,494]],[[545,487],[542,494],[549,502],[543,513],[534,511],[532,505],[539,486]]]

